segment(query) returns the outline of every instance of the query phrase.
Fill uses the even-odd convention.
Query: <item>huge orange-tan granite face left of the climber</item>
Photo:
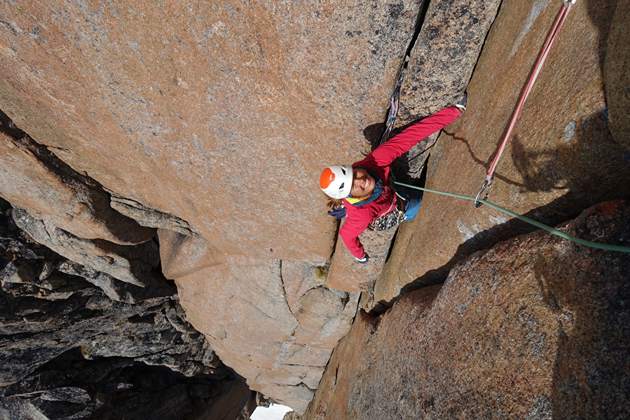
[[[316,179],[369,147],[364,129],[384,119],[420,6],[3,4],[0,110],[20,133],[3,139],[28,140],[48,160],[21,158],[31,201],[0,193],[19,207],[21,228],[69,259],[58,275],[117,302],[166,293],[157,228],[161,269],[184,291],[195,326],[214,334],[253,388],[304,411],[358,301],[324,285],[336,225],[323,206],[313,210],[324,200]],[[16,151],[6,149],[13,164]],[[21,174],[9,163],[3,176]],[[48,172],[30,169],[37,165]],[[44,212],[37,191],[74,185],[64,174],[98,191],[91,212],[145,236],[114,241],[76,217],[58,220],[86,201],[82,184],[55,198],[59,216]],[[212,304],[198,309],[200,301]],[[89,352],[110,357],[118,340]]]

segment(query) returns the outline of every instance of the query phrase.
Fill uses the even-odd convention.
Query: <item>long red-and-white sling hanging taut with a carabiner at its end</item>
[[[529,81],[527,82],[527,86],[525,86],[525,90],[520,97],[520,101],[518,101],[518,106],[516,107],[516,110],[514,110],[512,120],[510,121],[510,125],[508,125],[508,130],[505,133],[505,137],[503,137],[503,141],[501,142],[501,147],[499,147],[499,151],[496,152],[495,160],[492,161],[490,168],[488,168],[488,175],[481,185],[481,190],[479,190],[479,193],[474,199],[474,207],[481,207],[481,204],[484,203],[484,201],[480,198],[484,192],[486,193],[484,196],[484,200],[487,200],[488,196],[490,195],[490,187],[492,186],[492,175],[493,173],[495,173],[495,168],[499,162],[499,158],[503,153],[503,149],[505,149],[505,145],[507,144],[507,141],[512,134],[514,126],[516,125],[518,115],[520,115],[520,111],[523,109],[523,105],[525,105],[525,99],[527,99],[527,95],[529,95],[530,91],[534,87],[534,82],[536,82],[538,74],[541,72],[542,65],[545,63],[545,60],[549,55],[549,51],[551,51],[551,47],[553,46],[556,37],[558,37],[558,32],[560,31],[560,28],[562,27],[562,24],[564,23],[564,20],[566,19],[566,16],[569,13],[569,10],[571,9],[571,6],[573,6],[573,4],[575,4],[575,0],[564,0],[563,2],[563,6],[558,13],[558,17],[554,22],[553,28],[549,32],[549,35],[547,35],[547,40],[544,47],[542,48],[541,55],[538,57],[536,67],[534,67],[534,71],[529,77]]]

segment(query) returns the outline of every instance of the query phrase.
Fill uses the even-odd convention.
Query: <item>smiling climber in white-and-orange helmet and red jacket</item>
[[[339,234],[358,263],[366,264],[358,236],[367,228],[388,229],[401,220],[413,220],[422,202],[422,191],[392,190],[389,164],[422,139],[459,118],[466,109],[466,94],[455,106],[427,116],[380,145],[365,159],[352,165],[327,166],[319,178],[319,187],[329,196],[328,212],[338,219],[347,215]]]

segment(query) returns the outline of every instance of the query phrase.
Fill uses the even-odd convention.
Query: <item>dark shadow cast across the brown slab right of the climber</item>
[[[544,194],[553,190],[566,190],[564,195],[525,213],[525,217],[555,226],[574,219],[585,208],[602,201],[630,198],[630,183],[627,182],[627,179],[630,179],[630,162],[625,160],[624,146],[610,135],[607,116],[604,108],[599,113],[581,120],[580,123],[572,121],[564,130],[564,137],[561,140],[564,144],[559,144],[553,149],[528,149],[518,136],[510,140],[512,142],[510,157],[523,181],[515,181],[500,173],[496,173],[495,178],[517,186],[520,192]],[[466,142],[457,137],[455,139]],[[597,147],[595,154],[590,152],[593,147]],[[474,156],[470,148],[469,150],[475,161],[484,167],[489,166],[490,160],[481,161],[479,157]],[[471,254],[490,249],[498,242],[534,230],[537,228],[533,225],[512,219],[477,232],[457,247],[449,263],[427,271],[405,285],[394,300],[418,288],[444,282],[455,263]],[[384,312],[391,307],[394,300],[380,302],[374,310]]]

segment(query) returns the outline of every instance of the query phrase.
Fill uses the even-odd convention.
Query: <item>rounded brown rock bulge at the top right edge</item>
[[[630,4],[617,1],[612,16],[606,59],[604,83],[608,105],[608,125],[617,142],[630,153]],[[630,161],[630,154],[626,155]]]

